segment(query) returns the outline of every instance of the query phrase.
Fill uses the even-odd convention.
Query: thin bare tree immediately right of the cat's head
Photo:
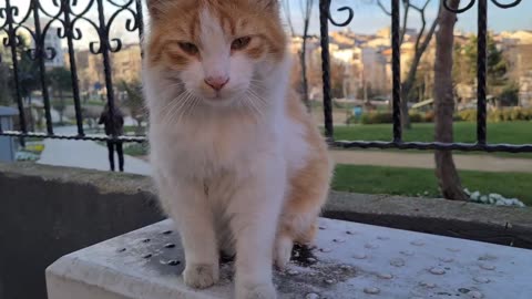
[[[296,35],[294,23],[291,21],[291,8],[290,2],[294,0],[283,0],[283,10],[285,12],[285,18],[287,20],[288,27],[290,29],[290,33],[293,37]],[[303,18],[303,42],[301,42],[301,50],[299,51],[299,64],[301,69],[301,97],[303,102],[307,106],[307,110],[310,111],[310,100],[308,96],[308,75],[307,75],[307,45],[308,39],[308,30],[310,28],[310,18],[313,14],[315,0],[299,0],[300,13]]]

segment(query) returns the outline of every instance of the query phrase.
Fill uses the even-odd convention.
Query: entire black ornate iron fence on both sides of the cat
[[[78,64],[75,58],[74,41],[83,38],[83,32],[79,27],[84,22],[92,27],[98,33],[94,41],[89,42],[89,50],[93,55],[100,55],[103,60],[104,82],[106,90],[106,103],[111,112],[114,111],[115,93],[112,76],[112,65],[110,54],[116,53],[122,49],[122,40],[111,37],[111,27],[119,16],[126,17],[125,30],[137,32],[142,39],[144,31],[143,3],[141,0],[86,0],[81,4],[79,0],[49,0],[55,8],[50,12],[49,8],[42,6],[43,0],[30,0],[30,6],[25,11],[12,3],[12,0],[3,0],[3,7],[0,8],[0,34],[4,33],[3,45],[9,49],[11,59],[11,72],[14,86],[14,99],[17,100],[20,112],[20,130],[2,131],[0,135],[14,137],[42,137],[60,140],[88,140],[88,141],[108,141],[120,140],[123,142],[144,142],[143,136],[112,136],[85,134],[83,127],[82,106],[80,99],[80,86],[78,78]],[[177,0],[176,0],[177,1]],[[17,1],[18,2],[18,1]],[[400,0],[390,0],[391,10],[391,49],[392,49],[392,115],[393,138],[390,142],[380,141],[335,141],[332,125],[332,101],[330,89],[330,62],[329,62],[329,23],[336,27],[348,25],[355,17],[354,10],[349,7],[341,7],[338,12],[348,13],[342,22],[338,22],[330,13],[331,0],[319,1],[319,21],[320,21],[320,45],[321,45],[321,65],[323,65],[323,90],[324,90],[324,115],[325,115],[325,135],[332,146],[344,148],[399,148],[399,150],[458,150],[458,151],[483,151],[483,152],[532,152],[532,144],[489,144],[487,142],[487,37],[488,37],[488,0],[469,0],[463,8],[452,10],[448,4],[449,0],[443,0],[446,9],[456,13],[464,12],[478,6],[478,117],[477,117],[477,143],[439,143],[439,142],[403,142],[401,131],[401,76],[400,76]],[[463,1],[462,1],[463,2]],[[491,0],[497,7],[507,9],[518,6],[521,0],[513,0],[510,3],[501,3],[498,0]],[[105,7],[111,6],[114,11],[105,17]],[[95,9],[98,18],[94,20],[90,11]],[[43,19],[43,17],[45,19]],[[33,27],[28,22],[32,20]],[[45,20],[42,22],[42,20]],[[42,22],[42,23],[41,23]],[[68,44],[68,56],[72,79],[72,95],[75,110],[75,123],[78,133],[73,135],[55,134],[52,125],[50,95],[47,87],[47,61],[53,60],[58,54],[57,49],[45,45],[45,35],[53,34],[49,32],[52,23],[58,25],[57,34]],[[38,63],[39,81],[42,91],[44,105],[45,133],[30,132],[27,126],[24,113],[24,102],[22,96],[22,78],[19,72],[20,54],[17,52],[21,43],[20,34],[25,31],[32,39],[33,47],[25,51],[25,55]]]

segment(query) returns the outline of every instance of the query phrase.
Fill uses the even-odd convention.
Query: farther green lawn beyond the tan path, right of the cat
[[[475,143],[477,124],[469,122],[454,123],[454,141],[464,143]],[[391,124],[375,125],[350,125],[336,126],[335,140],[341,141],[391,141]],[[433,142],[434,124],[416,123],[411,130],[403,131],[406,142]],[[488,124],[489,143],[509,143],[509,144],[532,144],[532,122],[503,122]],[[408,151],[412,152],[412,151]],[[417,152],[416,152],[417,153]],[[456,152],[459,153],[459,152]],[[463,154],[463,153],[460,153]],[[477,153],[479,154],[479,153]],[[505,157],[526,157],[532,158],[532,154],[509,154],[495,153],[498,156]]]

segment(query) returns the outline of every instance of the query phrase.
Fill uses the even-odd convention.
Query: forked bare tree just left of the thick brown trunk
[[[421,18],[421,28],[417,33],[416,37],[416,45],[415,45],[415,53],[411,64],[409,65],[407,78],[401,83],[401,123],[403,128],[410,128],[410,117],[408,116],[408,102],[412,100],[415,83],[416,83],[416,74],[418,71],[419,63],[423,58],[423,53],[426,52],[427,48],[434,35],[436,27],[438,25],[438,18],[432,21],[430,27],[427,30],[427,8],[431,0],[424,0],[422,6],[417,6],[411,0],[402,0],[402,4],[405,7],[405,12],[402,14],[402,24],[401,24],[401,35],[399,43],[402,45],[405,41],[405,35],[408,31],[408,19],[412,11],[416,11],[419,17]],[[382,0],[377,0],[377,4],[382,9],[385,13],[391,16],[391,11],[389,11],[386,6],[382,3]],[[440,8],[441,11],[441,8]],[[438,12],[439,16],[439,12]]]

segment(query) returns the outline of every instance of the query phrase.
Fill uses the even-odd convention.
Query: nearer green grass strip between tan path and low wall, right
[[[462,186],[498,193],[532,206],[532,174],[460,171]],[[441,197],[434,171],[403,167],[337,165],[332,189],[364,194]]]

